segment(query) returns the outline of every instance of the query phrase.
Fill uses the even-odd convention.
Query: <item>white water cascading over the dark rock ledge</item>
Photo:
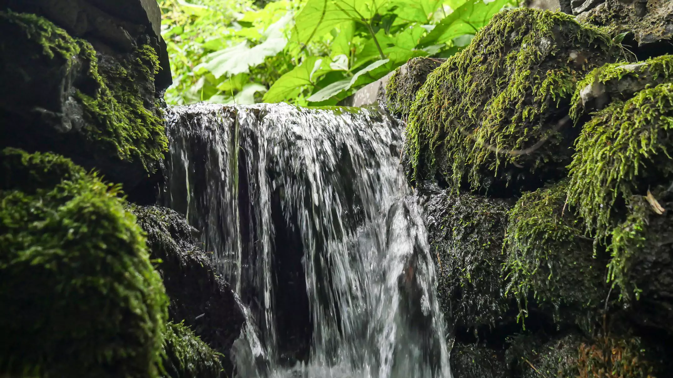
[[[239,377],[450,377],[399,124],[197,104],[172,108],[168,133],[166,205],[201,230],[248,318]]]

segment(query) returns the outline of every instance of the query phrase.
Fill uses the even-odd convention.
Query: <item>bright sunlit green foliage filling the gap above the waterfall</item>
[[[166,98],[336,104],[415,56],[456,52],[511,3],[160,0],[175,80]]]

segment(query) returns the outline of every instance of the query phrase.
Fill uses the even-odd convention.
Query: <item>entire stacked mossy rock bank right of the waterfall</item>
[[[505,11],[415,93],[402,162],[454,377],[668,376],[672,61],[610,17]]]

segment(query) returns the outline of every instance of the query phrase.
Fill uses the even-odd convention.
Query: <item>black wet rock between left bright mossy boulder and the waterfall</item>
[[[170,298],[170,319],[184,321],[203,342],[227,356],[222,362],[231,373],[229,350],[244,322],[232,288],[217,275],[211,256],[199,247],[182,215],[160,206],[133,206],[132,211],[147,233],[151,258],[161,260],[157,269]]]

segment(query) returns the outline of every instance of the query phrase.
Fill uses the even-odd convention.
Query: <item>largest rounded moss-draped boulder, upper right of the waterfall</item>
[[[621,54],[607,32],[565,13],[498,13],[417,93],[409,178],[508,196],[565,176],[578,133],[567,122],[575,85]]]

